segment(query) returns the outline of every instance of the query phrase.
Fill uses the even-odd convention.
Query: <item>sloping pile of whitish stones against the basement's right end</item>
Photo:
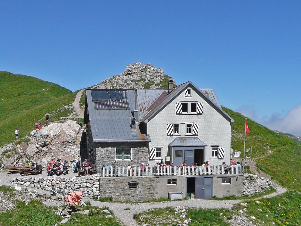
[[[243,195],[253,196],[256,193],[270,190],[270,186],[274,187],[272,181],[265,177],[258,177],[256,174],[244,174]]]

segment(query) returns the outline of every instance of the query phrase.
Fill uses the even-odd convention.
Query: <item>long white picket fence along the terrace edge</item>
[[[228,174],[243,174],[243,167],[230,167]],[[134,166],[130,170],[127,167],[112,167],[110,170],[101,169],[101,177],[128,177],[128,176],[197,176],[197,175],[223,175],[226,174],[223,165],[212,166],[170,166],[170,167],[153,167],[149,166],[142,170],[140,166]]]

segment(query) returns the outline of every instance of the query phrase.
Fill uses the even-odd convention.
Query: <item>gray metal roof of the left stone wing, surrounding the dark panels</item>
[[[86,90],[86,96],[93,141],[151,141],[145,134],[140,133],[139,128],[132,129],[130,126],[131,117],[133,116],[131,111],[135,109],[134,90],[127,90],[130,109],[95,109],[91,89]]]

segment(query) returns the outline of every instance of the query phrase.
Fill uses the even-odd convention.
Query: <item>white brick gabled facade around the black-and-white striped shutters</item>
[[[201,115],[176,115],[177,102],[203,102],[203,114]],[[230,163],[231,150],[231,122],[227,116],[222,115],[214,105],[203,99],[195,88],[191,89],[191,96],[185,97],[185,89],[176,96],[168,105],[166,105],[154,118],[147,123],[147,134],[151,137],[149,148],[163,147],[162,159],[165,162],[167,156],[168,145],[176,137],[192,137],[185,136],[185,123],[197,123],[199,125],[199,133],[196,137],[206,143],[204,161],[209,161],[210,165],[221,165],[222,162]],[[167,136],[167,124],[179,123],[179,135]],[[195,136],[194,136],[195,137]],[[225,158],[217,159],[212,157],[212,146],[225,148]],[[173,151],[170,152],[173,155]],[[154,165],[160,160],[150,160],[150,165]],[[173,161],[173,156],[170,159]]]

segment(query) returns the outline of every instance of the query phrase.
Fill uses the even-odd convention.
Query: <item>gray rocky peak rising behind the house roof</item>
[[[156,89],[167,88],[168,78],[162,68],[136,62],[126,66],[123,73],[107,78],[94,89]]]

